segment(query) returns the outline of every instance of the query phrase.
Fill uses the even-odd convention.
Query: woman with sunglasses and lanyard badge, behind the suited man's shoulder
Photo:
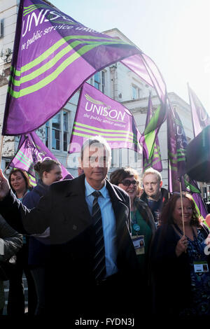
[[[141,194],[141,187],[139,186],[139,174],[135,169],[116,169],[110,175],[110,182],[120,188],[123,188],[123,190],[125,190],[125,192],[127,192],[130,196],[130,232],[132,234],[132,240],[139,262],[139,276],[141,276],[142,287],[146,287],[144,291],[144,298],[148,304],[148,278],[150,277],[149,253],[151,241],[155,234],[155,221],[146,202],[139,198],[139,195]]]

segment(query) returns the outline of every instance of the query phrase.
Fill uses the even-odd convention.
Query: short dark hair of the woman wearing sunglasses
[[[134,178],[139,181],[139,174],[137,172],[137,170],[127,167],[127,168],[120,168],[120,169],[116,169],[114,172],[111,172],[110,174],[110,183],[115,184],[115,185],[119,185],[120,183],[122,183],[123,179],[127,179],[128,177],[132,177],[134,176]],[[141,190],[141,186],[137,186],[137,195],[139,194]]]

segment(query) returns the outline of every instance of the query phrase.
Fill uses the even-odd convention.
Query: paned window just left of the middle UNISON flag
[[[60,111],[45,124],[45,145],[50,150],[68,150],[69,111]]]

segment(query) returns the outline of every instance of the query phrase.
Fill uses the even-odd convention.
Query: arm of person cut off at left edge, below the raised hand
[[[22,235],[0,217],[0,260],[8,260],[22,247]]]

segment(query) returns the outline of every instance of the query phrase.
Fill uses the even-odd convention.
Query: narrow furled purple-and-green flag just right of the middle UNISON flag
[[[146,116],[145,131],[147,130],[147,127],[151,122],[151,118],[153,118],[154,113],[155,111],[153,111],[153,103],[150,94],[148,98],[148,111]],[[145,172],[146,169],[152,167],[153,169],[158,170],[158,172],[162,172],[160,145],[158,140],[159,128],[149,132],[148,134],[145,134],[145,131],[141,137],[143,143],[143,171]]]

